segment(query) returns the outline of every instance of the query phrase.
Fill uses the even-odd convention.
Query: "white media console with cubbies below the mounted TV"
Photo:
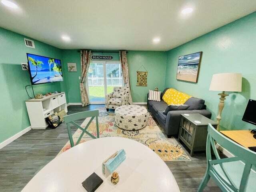
[[[65,92],[53,93],[42,99],[30,99],[26,101],[28,116],[32,129],[46,129],[46,117],[64,109],[68,112]]]

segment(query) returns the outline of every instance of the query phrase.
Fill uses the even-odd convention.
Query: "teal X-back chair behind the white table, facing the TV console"
[[[92,134],[90,134],[87,131],[87,128],[90,126],[92,120],[94,118],[96,118],[96,130],[97,130],[97,138],[100,138],[100,134],[99,134],[99,122],[98,122],[98,116],[99,116],[99,110],[92,110],[92,111],[84,111],[84,112],[79,112],[79,113],[75,113],[75,114],[71,114],[71,115],[67,115],[64,116],[64,122],[67,124],[67,128],[68,128],[68,138],[70,141],[70,146],[74,147],[75,145],[79,144],[80,140],[82,139],[83,135],[86,133],[87,135],[89,135],[90,137],[96,139],[95,136],[93,136]],[[75,123],[75,120],[79,120],[79,119],[84,119],[84,118],[88,118],[90,117],[89,122],[87,123],[87,125],[85,126],[85,128],[82,128],[80,125],[78,125],[77,123]],[[76,141],[76,144],[74,145],[74,140],[72,138],[72,133],[70,130],[70,124],[73,124],[74,126],[76,126],[78,129],[82,130],[81,135],[79,136],[78,140]]]

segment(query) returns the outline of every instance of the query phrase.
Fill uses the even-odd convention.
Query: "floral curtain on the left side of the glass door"
[[[90,60],[92,58],[92,51],[89,50],[81,50],[81,81],[80,81],[80,94],[82,106],[89,105],[89,98],[86,92],[86,88],[84,86],[84,82],[86,80],[86,75],[88,72],[88,68],[90,66]]]

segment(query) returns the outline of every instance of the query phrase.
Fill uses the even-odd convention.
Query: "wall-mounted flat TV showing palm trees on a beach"
[[[27,53],[30,79],[32,84],[63,81],[59,59]]]

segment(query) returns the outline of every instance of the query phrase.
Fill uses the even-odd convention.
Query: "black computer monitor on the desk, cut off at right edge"
[[[249,100],[242,120],[256,125],[256,100]],[[253,137],[256,139],[256,134]]]

